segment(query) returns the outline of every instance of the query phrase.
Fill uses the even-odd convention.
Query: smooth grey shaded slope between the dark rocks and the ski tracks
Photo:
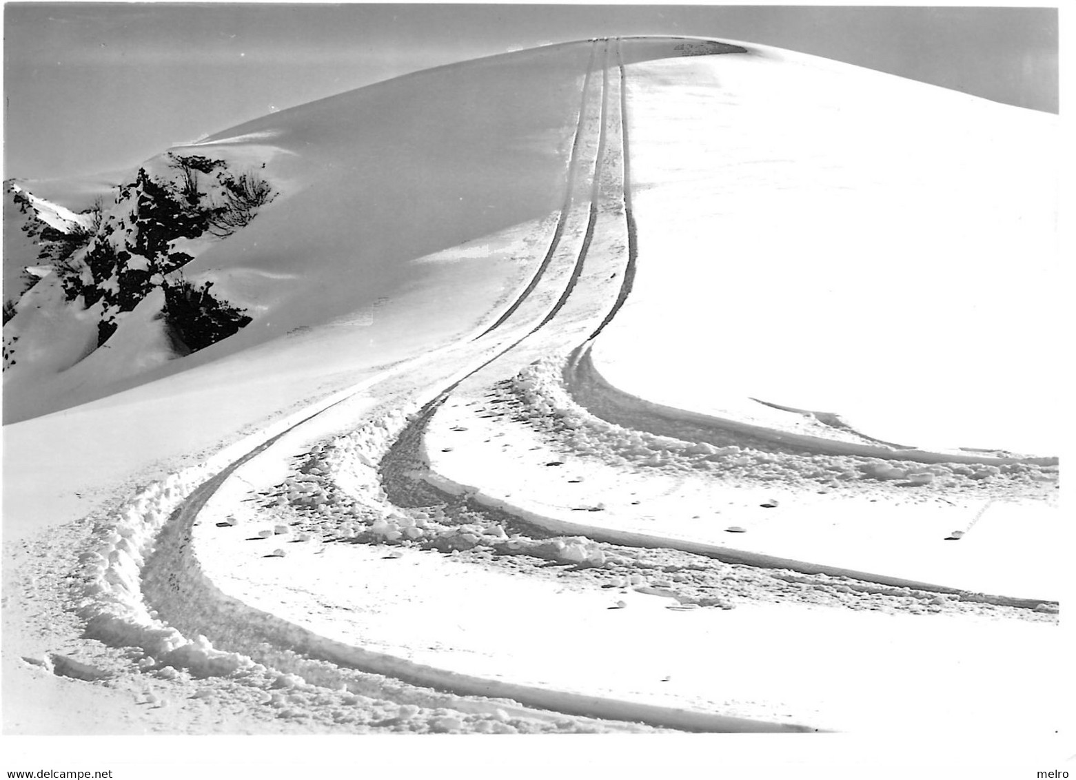
[[[139,370],[123,356],[76,365],[43,382],[8,380],[8,420],[70,407],[198,366],[299,328],[368,318],[405,293],[430,298],[419,327],[466,327],[501,294],[511,253],[491,250],[504,231],[541,221],[556,205],[581,47],[547,47],[508,60],[437,69],[271,114],[174,153],[257,170],[281,196],[246,228],[211,242],[184,267],[196,283],[212,280],[254,323],[237,336],[180,360],[160,356]],[[491,66],[492,63],[492,66]],[[491,76],[491,73],[507,73]],[[151,160],[151,171],[165,168]],[[522,184],[522,186],[521,186]],[[302,229],[296,229],[301,225]],[[419,261],[465,241],[481,250]],[[185,249],[184,251],[190,251]],[[493,266],[493,270],[491,270]],[[481,276],[443,307],[445,276]],[[467,297],[478,296],[469,303]],[[144,327],[145,301],[125,332]],[[113,345],[115,349],[115,344]],[[146,361],[143,361],[146,363]],[[160,365],[162,364],[162,365]]]

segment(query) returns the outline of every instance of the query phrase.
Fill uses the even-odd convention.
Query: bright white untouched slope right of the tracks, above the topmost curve
[[[1056,454],[1057,117],[763,47],[633,72],[642,260],[595,349],[612,384]]]

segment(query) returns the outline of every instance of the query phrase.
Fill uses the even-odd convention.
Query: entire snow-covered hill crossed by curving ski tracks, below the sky
[[[1030,323],[1050,343],[1054,130],[753,44],[598,39],[147,161],[105,240],[181,267],[129,309],[129,259],[89,308],[46,276],[10,323],[5,727],[1056,747],[1057,457],[1004,429],[1049,375],[975,373],[1022,371],[983,344]],[[176,159],[206,203],[224,172],[274,195],[225,236],[182,237],[193,207],[150,229]],[[250,322],[176,349],[180,272]],[[935,435],[923,396],[991,415]]]

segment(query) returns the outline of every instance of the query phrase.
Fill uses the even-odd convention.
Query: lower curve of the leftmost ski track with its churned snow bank
[[[445,369],[451,370],[458,357],[452,354],[452,350],[447,353],[440,357]],[[394,375],[405,373],[406,369],[413,370],[414,364],[391,370],[379,379],[382,383],[392,382]],[[366,383],[366,386],[370,384]],[[193,551],[192,526],[197,523],[204,504],[222,485],[227,484],[229,477],[258,455],[271,451],[273,444],[286,440],[288,436],[294,436],[311,424],[320,424],[324,420],[323,415],[353,414],[354,410],[348,407],[362,405],[364,399],[356,397],[356,393],[362,389],[363,387],[356,388],[345,398],[337,399],[330,406],[289,425],[230,463],[215,477],[194,487],[174,511],[169,507],[176,498],[176,491],[182,494],[186,490],[184,485],[192,484],[192,479],[196,479],[197,473],[179,476],[178,479],[169,480],[161,488],[151,486],[129,509],[119,511],[116,525],[103,525],[95,539],[103,541],[107,547],[100,553],[95,550],[83,555],[83,561],[89,567],[84,575],[90,583],[86,593],[91,596],[81,607],[87,621],[87,636],[108,644],[140,647],[146,654],[142,668],[156,669],[160,673],[167,672],[174,677],[178,673],[175,669],[185,669],[196,677],[226,676],[245,681],[245,684],[255,690],[269,687],[282,691],[279,700],[274,698],[271,701],[273,706],[281,708],[282,717],[291,717],[289,712],[306,712],[315,701],[323,707],[326,703],[354,705],[356,696],[358,704],[372,696],[381,703],[379,707],[407,711],[401,718],[411,725],[404,731],[423,731],[427,726],[431,731],[461,731],[465,726],[468,729],[477,728],[482,723],[500,723],[512,732],[520,728],[538,732],[563,728],[563,717],[520,708],[511,701],[470,700],[386,681],[379,671],[399,671],[396,675],[398,678],[423,679],[424,676],[422,670],[408,673],[408,665],[400,665],[393,658],[334,646],[271,613],[250,609],[221,593],[199,571]],[[340,425],[340,420],[335,424]],[[160,498],[156,498],[157,496]],[[159,522],[164,512],[170,512],[170,516],[159,531],[155,531],[154,523]],[[142,515],[144,520],[140,520]],[[145,523],[144,529],[139,527],[140,522]],[[143,556],[145,563],[140,565],[141,585],[136,588],[132,578],[127,573],[127,564],[141,564]],[[101,564],[98,562],[103,564],[105,561],[109,562],[108,568],[100,569]],[[103,601],[93,596],[101,593],[93,584],[95,582],[111,588],[114,595]],[[176,627],[184,629],[185,636],[193,639],[179,634]],[[228,650],[217,650],[204,635],[224,643]],[[303,654],[297,649],[310,652]],[[325,657],[348,657],[352,663],[348,668],[339,668],[320,661]],[[352,668],[355,666],[372,667],[378,671],[371,676]],[[430,678],[440,682],[444,676],[436,671],[425,676],[427,680]],[[466,689],[468,684],[459,686]],[[469,684],[470,689],[476,686],[481,687],[478,681]],[[484,693],[489,694],[490,691]],[[445,708],[451,712],[467,713],[467,718],[471,720],[466,724],[459,722],[458,718],[453,720],[451,712],[445,713]],[[510,725],[507,722],[509,720],[515,725]],[[442,721],[450,725],[438,725]],[[569,721],[571,723],[571,731],[620,728],[617,724],[587,725],[590,722],[585,720]]]

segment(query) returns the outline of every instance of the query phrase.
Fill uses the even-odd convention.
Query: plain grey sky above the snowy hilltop
[[[3,176],[129,169],[424,68],[646,33],[768,44],[1058,110],[1054,9],[9,2]]]

